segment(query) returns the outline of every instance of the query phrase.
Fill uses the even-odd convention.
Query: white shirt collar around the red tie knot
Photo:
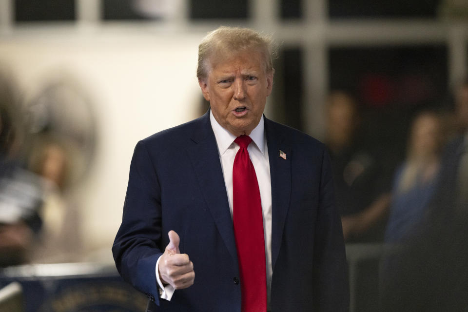
[[[210,121],[213,132],[215,133],[219,154],[223,155],[224,152],[226,152],[226,150],[231,146],[231,144],[233,144],[236,137],[216,121],[211,110]],[[260,118],[258,125],[254,128],[254,130],[252,130],[249,137],[252,138],[260,152],[265,154],[265,122],[263,120],[263,116]]]

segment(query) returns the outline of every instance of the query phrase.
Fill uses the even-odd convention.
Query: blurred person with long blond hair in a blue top
[[[439,176],[442,128],[433,112],[420,113],[412,123],[408,156],[394,178],[386,243],[405,239],[423,218]]]

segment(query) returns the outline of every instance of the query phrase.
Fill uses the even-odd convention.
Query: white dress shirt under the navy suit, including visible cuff
[[[233,216],[233,165],[234,158],[239,150],[239,146],[234,143],[235,136],[223,128],[210,111],[210,121],[213,132],[215,133],[216,144],[218,146],[219,160],[224,176],[224,184],[228,195],[229,209],[231,217]],[[265,237],[265,259],[267,275],[267,297],[270,303],[271,281],[272,281],[272,182],[270,177],[270,161],[268,159],[267,140],[265,138],[265,124],[263,117],[258,125],[249,135],[252,143],[249,144],[247,151],[255,168],[258,187],[260,189],[260,200],[263,212],[263,232]],[[190,254],[189,254],[190,257]],[[163,286],[159,279],[159,259],[156,262],[156,279],[160,287],[160,298],[171,300],[174,294],[174,288],[171,285]]]

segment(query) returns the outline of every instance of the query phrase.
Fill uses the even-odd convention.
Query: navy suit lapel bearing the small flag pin
[[[265,118],[265,132],[272,179],[272,266],[274,272],[290,203],[292,150],[284,135],[267,118]],[[286,153],[286,159],[279,156],[280,150]]]

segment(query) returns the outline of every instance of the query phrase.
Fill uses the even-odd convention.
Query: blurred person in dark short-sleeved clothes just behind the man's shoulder
[[[347,242],[381,241],[390,193],[378,181],[378,164],[355,142],[360,117],[350,95],[333,91],[327,100],[326,145],[343,234]]]

